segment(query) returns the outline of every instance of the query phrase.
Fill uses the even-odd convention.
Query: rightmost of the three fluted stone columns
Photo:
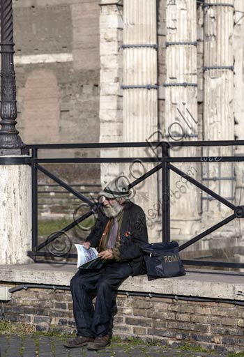
[[[211,0],[204,5],[204,140],[234,139],[234,0],[227,3]],[[206,156],[232,154],[229,147],[204,150]],[[204,183],[227,199],[233,196],[233,176],[228,162],[204,165]],[[207,220],[231,213],[216,201],[204,200],[203,209]]]

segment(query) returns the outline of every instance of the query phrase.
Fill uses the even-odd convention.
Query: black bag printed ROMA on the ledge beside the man
[[[148,280],[185,275],[178,243],[151,243],[142,246]]]

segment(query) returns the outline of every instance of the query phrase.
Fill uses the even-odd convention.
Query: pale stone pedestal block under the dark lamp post
[[[14,156],[15,158],[16,156]],[[24,264],[31,250],[31,167],[0,166],[1,264]]]

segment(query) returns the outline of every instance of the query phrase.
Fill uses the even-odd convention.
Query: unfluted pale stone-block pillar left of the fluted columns
[[[123,7],[111,5],[110,0],[100,3],[100,142],[121,142],[123,139],[122,61],[121,37]],[[118,157],[119,149],[100,152],[102,158]],[[121,174],[117,164],[101,165],[101,183]]]

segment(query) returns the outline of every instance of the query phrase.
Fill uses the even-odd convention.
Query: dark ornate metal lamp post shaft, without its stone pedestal
[[[1,129],[0,149],[6,153],[23,153],[25,144],[22,142],[17,121],[16,81],[14,68],[13,43],[13,3],[12,0],[0,0],[1,4]],[[10,149],[10,150],[9,150]],[[3,150],[1,150],[1,153]],[[3,154],[4,155],[4,154]]]

